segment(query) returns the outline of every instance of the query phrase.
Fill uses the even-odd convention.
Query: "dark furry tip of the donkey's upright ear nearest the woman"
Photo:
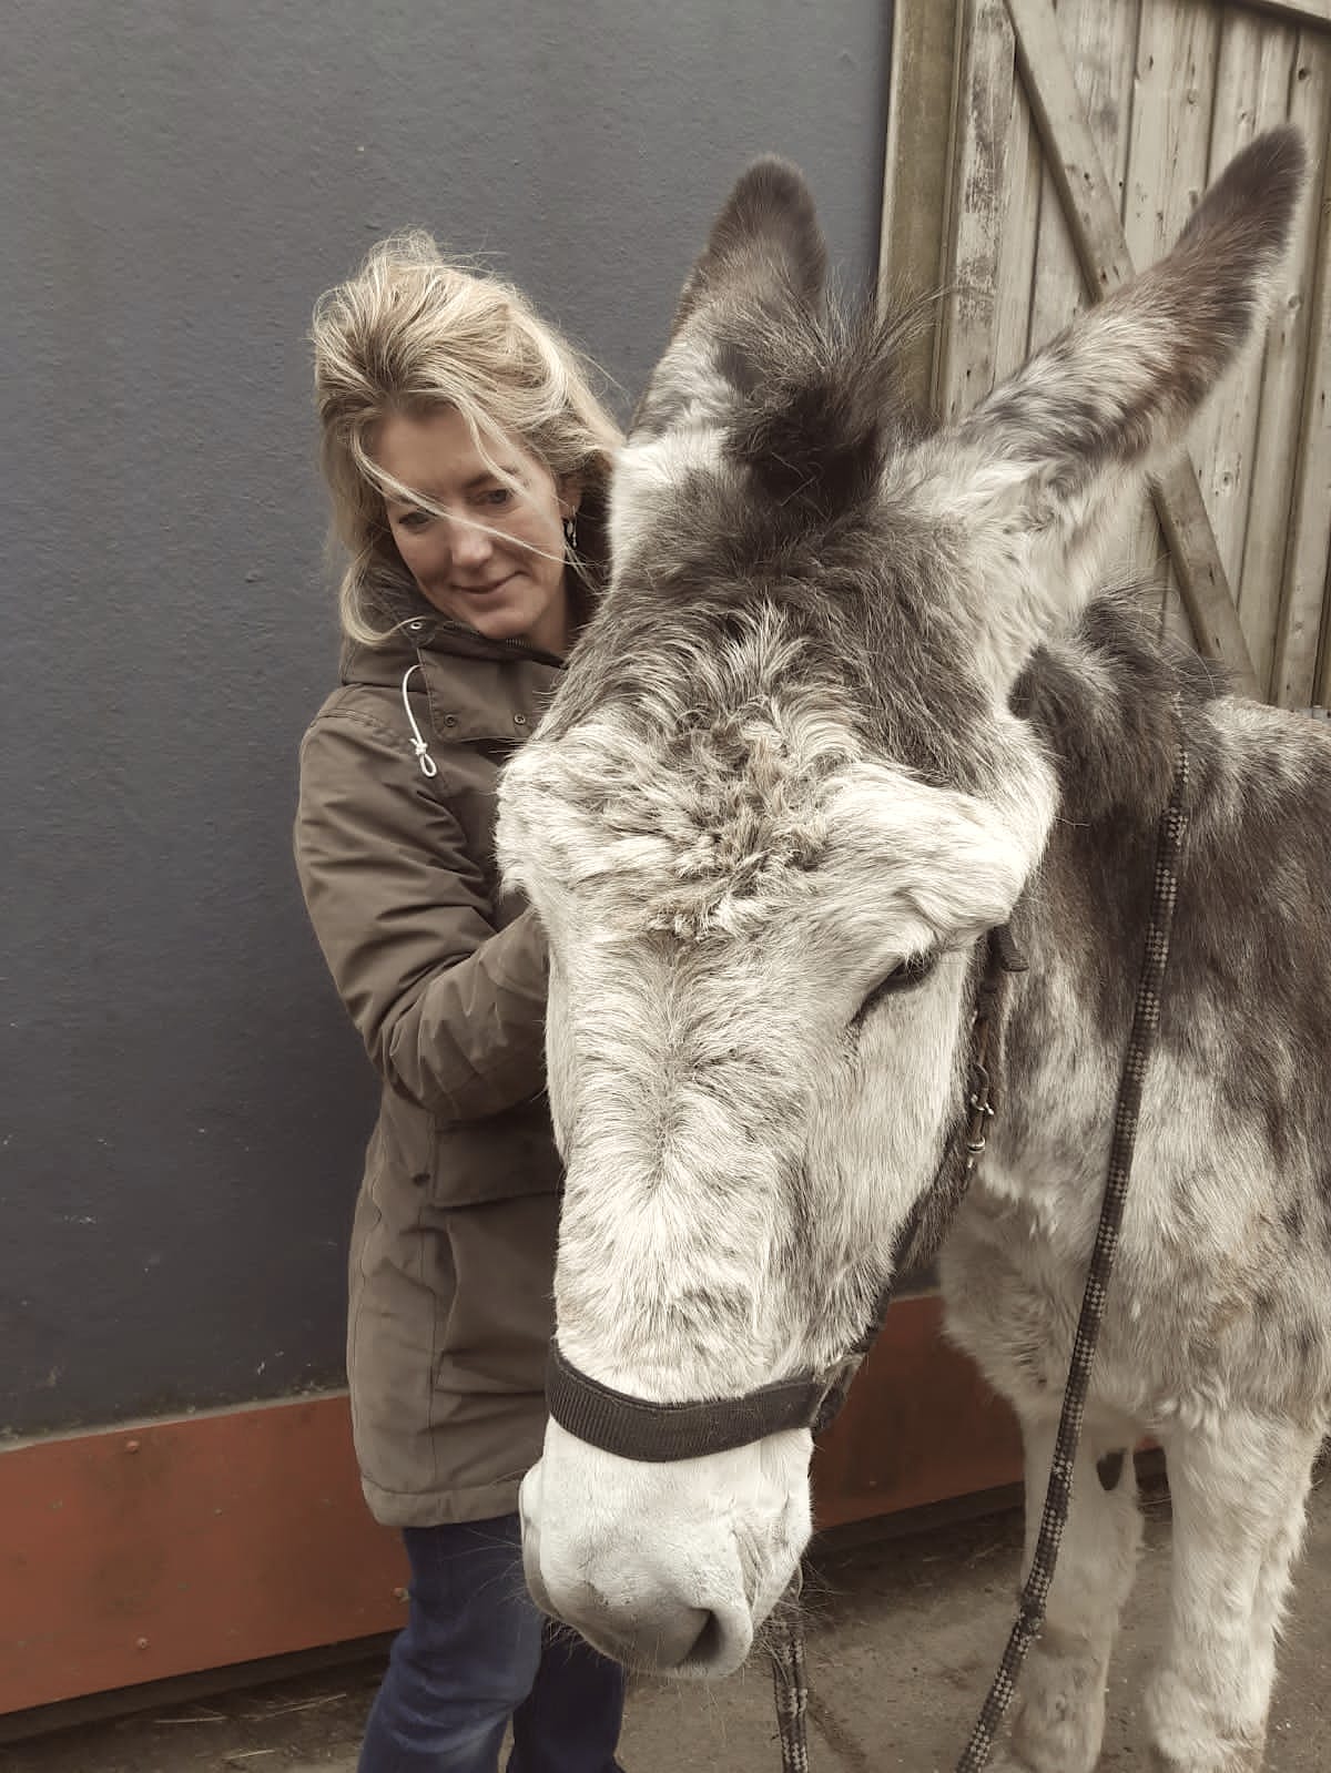
[[[776,154],[742,174],[712,225],[706,248],[689,273],[674,328],[712,300],[786,300],[816,309],[827,282],[823,241],[813,197],[797,167]]]

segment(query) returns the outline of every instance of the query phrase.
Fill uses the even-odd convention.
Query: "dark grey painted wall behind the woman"
[[[341,1379],[369,1067],[289,862],[303,328],[426,223],[637,392],[731,177],[871,273],[882,0],[5,7],[0,1427]]]

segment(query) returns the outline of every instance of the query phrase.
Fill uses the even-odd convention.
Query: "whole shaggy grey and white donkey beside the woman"
[[[557,1349],[630,1399],[738,1397],[859,1340],[962,1124],[1008,926],[1003,1113],[941,1273],[1038,1518],[1182,734],[1134,1184],[999,1750],[1033,1773],[1099,1755],[1141,1436],[1175,1512],[1155,1764],[1260,1766],[1331,1417],[1331,739],[1097,590],[1114,514],[1262,317],[1301,179],[1297,135],[1258,138],[1162,262],[928,429],[893,392],[900,326],[829,317],[799,174],[752,167],[621,454],[603,608],[502,785],[550,943]],[[651,1463],[552,1420],[532,1594],[625,1661],[736,1668],[807,1541],[809,1452],[783,1427]]]

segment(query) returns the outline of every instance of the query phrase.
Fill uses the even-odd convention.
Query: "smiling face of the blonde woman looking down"
[[[421,594],[488,640],[564,652],[563,519],[577,509],[577,489],[561,491],[543,463],[504,443],[493,461],[518,482],[522,493],[515,493],[486,468],[453,408],[387,418],[373,459],[447,512],[385,502],[398,553]]]

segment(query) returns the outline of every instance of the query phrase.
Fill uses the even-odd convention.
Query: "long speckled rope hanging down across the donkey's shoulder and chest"
[[[1152,886],[1150,924],[1146,927],[1146,947],[1141,959],[1141,977],[1138,980],[1138,998],[1132,1011],[1132,1035],[1123,1058],[1123,1074],[1118,1083],[1118,1106],[1114,1110],[1114,1135],[1109,1151],[1109,1179],[1100,1207],[1100,1227],[1095,1234],[1091,1266],[1086,1275],[1086,1293],[1081,1301],[1077,1321],[1077,1339],[1072,1346],[1068,1363],[1068,1383],[1063,1390],[1063,1413],[1058,1422],[1058,1440],[1054,1443],[1054,1463],[1049,1472],[1049,1489],[1040,1519],[1040,1537],[1031,1560],[1031,1573],[1022,1589],[1017,1622],[1012,1628],[1008,1647],[1003,1652],[999,1672],[988,1691],[980,1722],[967,1743],[965,1753],[957,1762],[957,1773],[980,1773],[988,1764],[994,1738],[1003,1714],[1017,1688],[1026,1651],[1040,1633],[1045,1617],[1049,1587],[1054,1580],[1058,1548],[1063,1539],[1063,1527],[1068,1518],[1072,1500],[1072,1463],[1077,1457],[1081,1424],[1086,1413],[1086,1388],[1095,1360],[1095,1344],[1104,1321],[1104,1307],[1109,1294],[1109,1277],[1118,1250],[1118,1232],[1123,1223],[1123,1204],[1132,1175],[1132,1151],[1138,1136],[1138,1113],[1141,1112],[1141,1092],[1146,1082],[1155,1034],[1161,1025],[1161,996],[1164,991],[1164,968],[1170,959],[1170,934],[1173,931],[1173,911],[1178,897],[1178,855],[1187,830],[1187,743],[1178,725],[1175,707],[1175,777],[1170,805],[1161,817],[1155,847],[1155,881]]]

